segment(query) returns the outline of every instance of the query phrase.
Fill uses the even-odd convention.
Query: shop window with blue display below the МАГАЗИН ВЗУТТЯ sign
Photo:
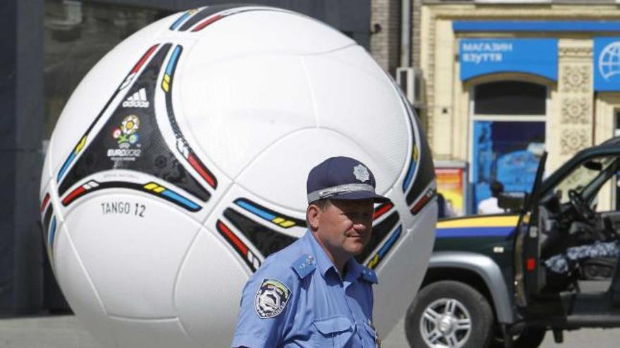
[[[547,86],[498,81],[473,86],[471,212],[490,198],[491,183],[504,191],[531,191],[545,150]]]

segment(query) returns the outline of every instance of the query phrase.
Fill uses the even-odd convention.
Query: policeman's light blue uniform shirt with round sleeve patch
[[[376,347],[374,271],[340,274],[310,231],[268,257],[243,289],[232,347]]]

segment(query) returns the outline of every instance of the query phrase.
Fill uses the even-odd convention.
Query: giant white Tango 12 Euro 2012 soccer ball
[[[105,347],[227,347],[247,278],[305,231],[306,176],[333,155],[376,174],[384,335],[424,275],[437,210],[411,108],[352,39],[298,13],[171,15],[92,68],[51,137],[46,247]]]

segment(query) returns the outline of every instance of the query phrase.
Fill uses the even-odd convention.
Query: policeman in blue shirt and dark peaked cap
[[[371,238],[372,172],[331,157],[307,181],[308,231],[268,257],[243,289],[232,347],[377,347],[377,276],[354,259]]]

